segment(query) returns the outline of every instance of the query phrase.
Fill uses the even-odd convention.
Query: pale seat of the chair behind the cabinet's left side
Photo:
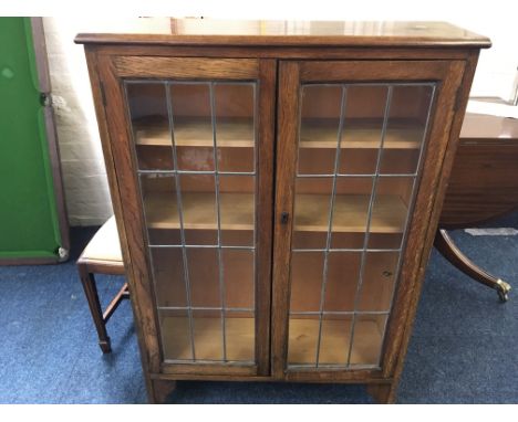
[[[87,261],[123,262],[115,217],[112,215],[92,238],[81,255]]]

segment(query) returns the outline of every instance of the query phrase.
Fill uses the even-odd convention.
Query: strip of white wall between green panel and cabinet
[[[101,224],[112,214],[110,192],[79,22],[45,18],[63,184],[71,225]]]

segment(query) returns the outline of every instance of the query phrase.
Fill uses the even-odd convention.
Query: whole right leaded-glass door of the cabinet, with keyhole
[[[390,376],[405,325],[393,315],[397,292],[413,285],[424,252],[463,68],[281,62],[276,377]]]

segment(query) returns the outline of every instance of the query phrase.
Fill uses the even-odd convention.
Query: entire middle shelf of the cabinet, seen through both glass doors
[[[253,230],[253,194],[225,193],[220,197],[221,230]],[[334,201],[334,232],[364,232],[369,196],[338,194]],[[294,230],[328,230],[329,196],[298,194]],[[216,230],[216,198],[213,193],[182,194],[184,229]],[[174,194],[152,194],[145,200],[146,218],[152,229],[179,229],[178,208]],[[397,196],[377,196],[370,225],[375,233],[401,233],[406,207]]]

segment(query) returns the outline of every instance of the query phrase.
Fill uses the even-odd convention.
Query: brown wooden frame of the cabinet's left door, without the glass
[[[103,141],[113,163],[112,190],[124,198],[124,205],[115,207],[126,277],[141,346],[143,366],[148,376],[222,374],[266,376],[270,371],[270,289],[272,243],[272,178],[276,61],[259,59],[208,59],[138,55],[102,55],[95,57],[100,75],[101,99],[104,103],[110,141]],[[123,81],[131,78],[170,78],[198,81],[253,81],[258,86],[256,123],[256,365],[164,363],[158,320],[147,253],[147,235],[141,205],[136,162],[133,155],[132,126]],[[99,107],[101,108],[101,107]]]

